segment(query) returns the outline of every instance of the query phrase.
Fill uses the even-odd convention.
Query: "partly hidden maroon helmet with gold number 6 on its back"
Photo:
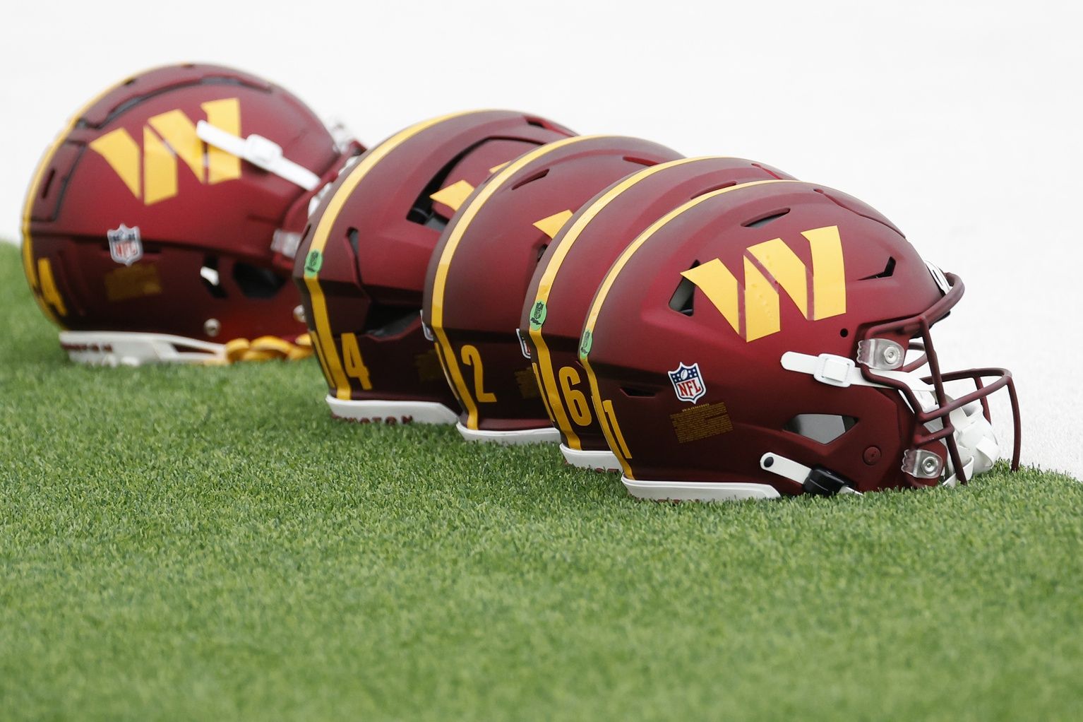
[[[526,292],[519,333],[526,339],[542,392],[575,466],[619,470],[595,420],[579,335],[595,291],[622,250],[652,221],[709,191],[790,178],[742,158],[680,158],[613,183],[580,208],[546,249]]]

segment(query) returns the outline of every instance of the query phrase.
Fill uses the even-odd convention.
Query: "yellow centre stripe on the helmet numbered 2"
[[[452,232],[447,236],[447,243],[444,244],[444,248],[440,254],[440,260],[436,265],[436,278],[433,281],[432,287],[432,313],[430,325],[436,336],[436,343],[440,344],[443,349],[443,357],[447,363],[446,370],[455,384],[459,400],[462,401],[462,405],[466,407],[467,428],[478,428],[478,404],[470,395],[470,389],[467,387],[466,381],[462,378],[462,371],[459,369],[455,349],[452,348],[452,344],[447,339],[447,334],[444,333],[444,292],[447,285],[447,272],[452,265],[452,258],[455,256],[455,252],[458,248],[459,243],[462,241],[462,235],[466,233],[467,228],[469,228],[470,222],[473,221],[478,211],[481,210],[481,207],[485,205],[485,202],[488,201],[488,198],[491,198],[493,194],[496,193],[505,183],[507,183],[512,176],[519,172],[521,168],[545,156],[547,153],[565,147],[572,143],[578,143],[595,138],[601,138],[601,136],[575,136],[573,138],[565,138],[563,140],[542,145],[524,155],[519,156],[518,159],[505,166],[496,176],[490,178],[488,182],[482,186],[481,191],[473,197],[469,205],[459,209],[461,215],[452,228]]]

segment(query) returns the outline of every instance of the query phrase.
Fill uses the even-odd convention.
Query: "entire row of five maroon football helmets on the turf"
[[[208,65],[77,113],[23,233],[69,357],[314,350],[334,416],[559,441],[647,499],[965,482],[1006,388],[1018,466],[1010,373],[932,346],[963,282],[852,196],[509,111],[342,136]]]

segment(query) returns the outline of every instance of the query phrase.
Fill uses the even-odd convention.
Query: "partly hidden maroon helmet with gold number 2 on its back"
[[[516,159],[455,215],[429,262],[422,315],[466,439],[560,438],[518,333],[531,278],[551,238],[595,193],[678,157],[636,138],[570,138]]]

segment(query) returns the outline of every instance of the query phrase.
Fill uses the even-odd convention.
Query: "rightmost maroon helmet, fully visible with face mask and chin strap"
[[[962,295],[838,191],[759,181],[689,201],[621,254],[583,331],[625,486],[714,500],[965,482],[996,459],[986,397],[1005,386],[1016,468],[1010,373],[941,373],[932,347]],[[954,382],[973,386],[953,398]]]

